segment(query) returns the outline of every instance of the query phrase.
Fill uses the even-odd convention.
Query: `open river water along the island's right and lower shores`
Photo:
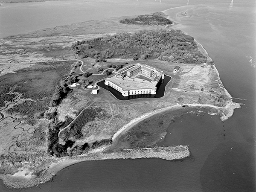
[[[232,8],[230,0],[190,0],[188,6],[187,0],[162,0],[163,7],[157,6],[158,2],[150,9],[149,0],[123,2],[130,6],[117,6],[123,13],[119,10],[119,15],[114,16],[130,15],[129,11],[134,15],[136,4],[144,6],[142,12],[137,9],[138,14],[173,8],[165,13],[179,23],[174,27],[204,46],[215,61],[224,87],[233,97],[247,99],[235,100],[245,105],[225,122],[218,116],[196,112],[186,113],[171,123],[171,113],[161,114],[163,121],[170,123],[166,138],[158,145],[189,145],[191,158],[176,162],[159,159],[83,162],[61,170],[52,182],[24,191],[256,191],[255,0],[234,0]],[[152,121],[155,119],[157,116],[151,117]],[[0,185],[0,191],[9,190]]]

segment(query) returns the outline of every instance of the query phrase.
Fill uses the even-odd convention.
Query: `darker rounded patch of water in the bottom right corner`
[[[207,157],[200,172],[204,192],[256,191],[255,147],[249,143],[219,144]]]

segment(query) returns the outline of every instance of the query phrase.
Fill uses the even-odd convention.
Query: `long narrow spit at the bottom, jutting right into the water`
[[[189,146],[178,145],[169,147],[153,147],[153,148],[134,148],[123,149],[120,151],[105,153],[105,148],[92,151],[88,154],[74,157],[56,158],[56,163],[52,163],[38,177],[22,177],[22,175],[5,175],[0,176],[4,184],[9,188],[27,188],[45,183],[61,169],[71,166],[82,161],[91,160],[108,160],[108,159],[140,159],[140,158],[160,158],[164,160],[181,160],[190,156]]]

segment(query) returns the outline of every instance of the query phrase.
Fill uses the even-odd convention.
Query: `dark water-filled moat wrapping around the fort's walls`
[[[160,80],[157,84],[157,94],[156,95],[151,95],[151,94],[141,94],[141,95],[129,95],[127,97],[122,96],[122,93],[119,91],[115,90],[114,88],[105,85],[104,82],[105,80],[99,81],[97,85],[99,87],[102,87],[105,90],[108,90],[111,92],[117,99],[119,100],[129,100],[129,99],[138,99],[138,98],[160,98],[164,96],[165,89],[166,89],[166,84],[169,83],[169,81],[172,78],[170,76],[165,76],[164,79]]]

